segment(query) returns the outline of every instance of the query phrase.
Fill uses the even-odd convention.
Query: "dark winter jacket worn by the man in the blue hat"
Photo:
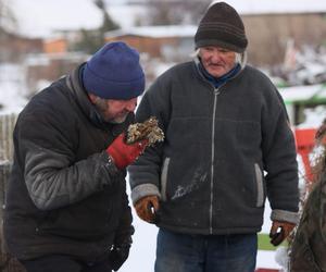
[[[7,191],[4,235],[11,254],[106,258],[134,232],[125,193],[105,148],[126,128],[101,122],[79,69],[36,95],[18,116]]]

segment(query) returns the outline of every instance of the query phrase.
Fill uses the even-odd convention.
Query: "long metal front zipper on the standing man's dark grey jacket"
[[[213,234],[213,187],[214,187],[214,147],[215,147],[215,114],[216,114],[216,104],[217,96],[220,95],[220,87],[214,88],[214,108],[213,108],[213,118],[212,118],[212,161],[211,161],[211,206],[210,206],[210,234]]]

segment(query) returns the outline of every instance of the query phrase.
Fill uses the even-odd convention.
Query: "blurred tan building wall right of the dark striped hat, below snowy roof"
[[[297,49],[326,45],[326,11],[242,15],[249,38],[249,62],[281,64],[289,40]]]

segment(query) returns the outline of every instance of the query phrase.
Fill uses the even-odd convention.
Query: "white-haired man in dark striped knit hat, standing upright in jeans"
[[[236,10],[212,4],[195,36],[197,58],[145,94],[136,119],[165,133],[128,168],[138,215],[159,227],[155,272],[249,272],[268,197],[272,243],[298,220],[298,169],[284,102],[246,65]]]

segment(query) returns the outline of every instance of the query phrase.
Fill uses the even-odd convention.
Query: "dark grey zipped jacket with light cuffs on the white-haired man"
[[[266,196],[273,220],[298,220],[296,147],[271,81],[246,66],[220,88],[195,62],[178,64],[145,94],[165,140],[131,166],[131,198],[158,195],[158,225],[197,234],[255,233]],[[266,175],[264,174],[266,173]]]

